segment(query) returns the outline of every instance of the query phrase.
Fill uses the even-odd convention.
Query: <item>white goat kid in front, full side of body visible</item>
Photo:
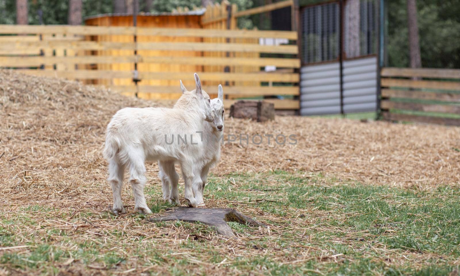
[[[194,164],[202,156],[201,141],[196,132],[203,131],[203,122],[212,121],[210,99],[201,89],[201,82],[195,73],[196,90],[183,91],[173,108],[123,108],[109,125],[105,138],[104,158],[109,161],[108,181],[112,187],[115,214],[125,213],[121,201],[121,187],[125,167],[129,169],[129,183],[134,194],[135,209],[150,214],[145,203],[144,186],[145,161],[178,161],[185,180],[185,199],[196,207],[192,192]],[[195,135],[196,142],[171,143],[167,137],[174,135]],[[191,138],[190,138],[191,139]]]

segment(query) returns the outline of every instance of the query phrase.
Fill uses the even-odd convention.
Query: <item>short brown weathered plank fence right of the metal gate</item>
[[[460,69],[382,68],[382,116],[460,125]]]

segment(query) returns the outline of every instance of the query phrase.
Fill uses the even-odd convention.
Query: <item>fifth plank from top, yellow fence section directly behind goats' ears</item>
[[[200,74],[201,76],[201,74]],[[190,87],[191,89],[192,87]],[[209,94],[217,93],[217,86],[203,86]],[[299,95],[297,86],[224,86],[224,94],[234,96],[270,96],[270,95]],[[138,85],[139,93],[180,93],[179,85],[176,86],[152,86]]]

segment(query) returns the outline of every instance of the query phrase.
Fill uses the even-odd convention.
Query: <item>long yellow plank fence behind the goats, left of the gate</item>
[[[259,38],[291,44],[259,45]],[[268,100],[276,109],[298,109],[292,98],[299,95],[296,40],[290,31],[0,25],[0,67],[78,79],[147,99],[177,98],[179,79],[191,90],[198,72],[209,94],[223,84],[227,98],[288,95],[291,99]],[[265,66],[281,70],[265,72]]]

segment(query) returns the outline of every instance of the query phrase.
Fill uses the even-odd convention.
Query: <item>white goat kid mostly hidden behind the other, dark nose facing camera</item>
[[[185,88],[183,90],[185,90]],[[211,100],[211,110],[213,113],[213,122],[203,123],[203,155],[197,160],[193,171],[194,175],[200,176],[200,179],[195,178],[192,183],[195,200],[199,206],[204,206],[203,191],[209,169],[211,169],[220,158],[220,143],[223,135],[222,131],[224,130],[224,91],[220,84],[218,97]],[[174,161],[158,161],[158,167],[163,190],[163,199],[169,199],[171,204],[180,205],[177,190],[179,175],[174,169]],[[170,184],[171,190],[169,188]]]

